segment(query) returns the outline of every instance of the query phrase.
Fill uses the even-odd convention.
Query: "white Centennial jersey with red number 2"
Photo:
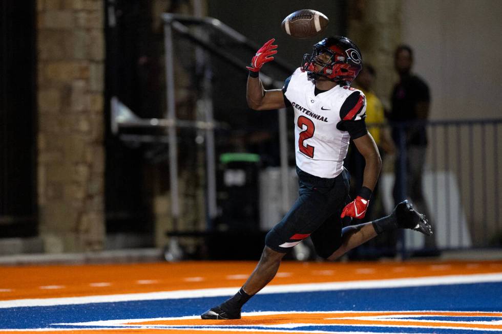
[[[315,84],[300,69],[283,89],[295,110],[296,164],[309,174],[331,179],[342,172],[347,155],[350,135],[344,121],[364,120],[366,99],[349,86],[337,85],[317,96],[314,90]]]

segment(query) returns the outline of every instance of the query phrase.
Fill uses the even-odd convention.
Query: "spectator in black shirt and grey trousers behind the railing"
[[[429,117],[429,86],[411,72],[413,50],[407,45],[399,46],[394,53],[394,66],[399,82],[392,91],[392,109],[388,119],[393,123],[392,138],[398,148],[395,160],[394,202],[410,198],[417,210],[431,217],[422,189],[422,174],[427,150],[427,132],[424,121]],[[405,122],[405,126],[400,126]],[[403,140],[403,142],[400,142]],[[402,145],[403,147],[401,147]],[[405,152],[399,150],[404,148]],[[402,154],[406,155],[406,158]],[[402,160],[403,159],[403,160]],[[401,168],[404,167],[404,170]],[[406,184],[403,188],[403,178]],[[404,190],[404,191],[403,191]],[[422,255],[437,255],[434,236],[425,238]]]

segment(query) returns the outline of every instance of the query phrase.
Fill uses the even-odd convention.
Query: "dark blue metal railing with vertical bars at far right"
[[[401,178],[394,195],[410,198],[410,177],[406,154],[406,129],[424,126],[427,150],[423,157],[422,186],[426,210],[435,230],[435,244],[440,250],[502,247],[499,195],[502,120],[429,121],[393,124],[398,143],[395,175]],[[393,176],[393,175],[392,175]],[[388,178],[392,178],[392,176]],[[384,196],[391,197],[387,183]],[[405,233],[404,248],[424,247],[416,233]],[[427,243],[425,243],[427,247]]]

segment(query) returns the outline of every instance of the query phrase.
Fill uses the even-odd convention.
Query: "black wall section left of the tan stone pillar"
[[[0,237],[36,234],[35,1],[0,2]]]

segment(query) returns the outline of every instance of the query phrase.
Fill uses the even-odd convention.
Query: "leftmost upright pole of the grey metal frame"
[[[166,119],[176,124],[176,103],[173,66],[173,32],[169,23],[164,24],[165,47],[165,91],[167,97]],[[173,214],[173,229],[178,229],[179,199],[178,199],[178,154],[176,126],[168,129],[169,137],[169,179],[171,182],[171,212]]]

